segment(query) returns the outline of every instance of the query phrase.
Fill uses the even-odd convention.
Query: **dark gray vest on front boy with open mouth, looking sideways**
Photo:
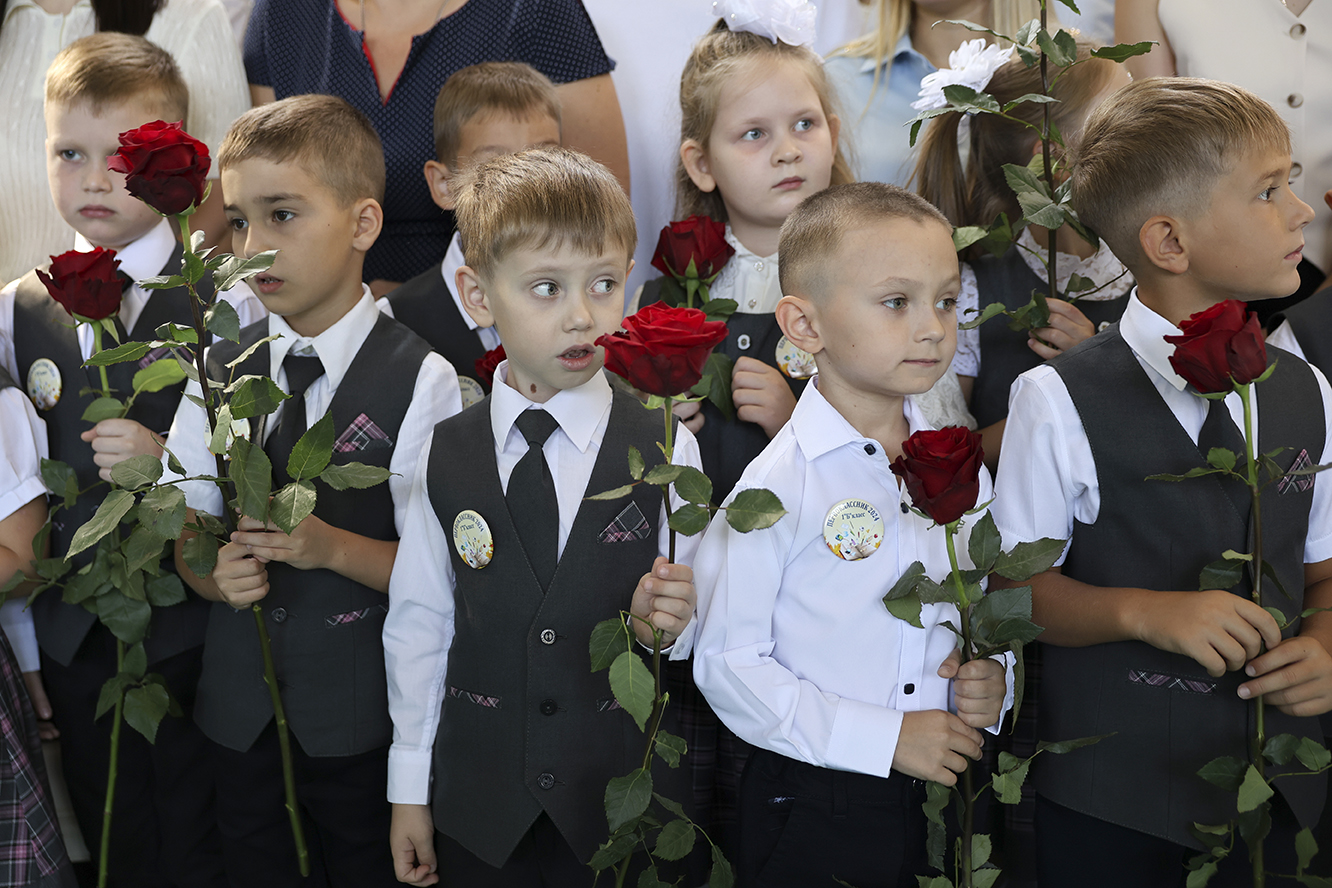
[[[661,414],[615,393],[587,493],[629,481],[629,445],[649,466],[662,462],[661,439]],[[490,398],[436,426],[428,485],[445,534],[470,509],[494,539],[482,570],[449,547],[456,616],[434,742],[434,825],[501,867],[545,811],[587,860],[610,835],[606,783],[638,768],[645,744],[614,703],[606,672],[590,670],[587,644],[593,626],[629,610],[651,570],[661,493],[638,485],[623,499],[585,499],[542,594],[500,486]],[[626,511],[631,519],[621,518]],[[654,781],[666,784],[667,770],[659,771]],[[657,791],[685,800],[670,785]]]

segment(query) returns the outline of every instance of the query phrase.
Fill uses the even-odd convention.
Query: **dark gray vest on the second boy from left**
[[[213,346],[209,377],[228,378],[224,365],[265,335],[266,320],[245,328],[238,345]],[[429,351],[430,346],[405,326],[377,316],[329,405],[337,435],[334,465],[364,462],[388,469]],[[268,375],[269,370],[265,346],[240,365],[236,375]],[[388,483],[344,491],[320,481],[314,486],[314,511],[321,521],[372,539],[398,538]],[[268,566],[268,582],[264,620],[286,719],[301,748],[313,756],[344,756],[388,746],[393,726],[381,639],[388,595],[330,570],[296,570],[276,562]],[[194,720],[216,743],[244,752],[272,719],[254,614],[214,602]]]

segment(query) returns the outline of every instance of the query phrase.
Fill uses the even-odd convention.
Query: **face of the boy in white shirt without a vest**
[[[935,221],[846,233],[811,300],[819,387],[880,398],[927,391],[958,347],[958,254]]]

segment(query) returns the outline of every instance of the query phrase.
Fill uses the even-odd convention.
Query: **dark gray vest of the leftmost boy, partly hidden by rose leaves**
[[[181,249],[177,245],[163,268],[163,273],[178,272],[180,257]],[[43,270],[47,270],[45,266]],[[210,288],[204,292],[204,296],[210,296]],[[190,317],[189,293],[184,288],[152,290],[139,320],[135,321],[135,329],[129,330],[129,338],[140,342],[155,339],[155,330],[163,324],[189,324]],[[80,395],[79,391],[100,387],[101,381],[96,367],[85,369],[81,366],[83,355],[79,351],[73,320],[59,302],[51,298],[47,288],[37,280],[36,272],[29,272],[19,281],[13,301],[13,333],[15,358],[19,365],[16,382],[25,383],[29,367],[40,358],[55,361],[60,369],[64,386],[60,401],[51,410],[39,414],[47,422],[51,458],[68,463],[77,474],[80,487],[96,483],[97,466],[92,461],[92,447],[79,439],[80,434],[92,427],[81,417],[93,395]],[[111,345],[113,343],[105,342],[107,347]],[[135,373],[141,366],[164,355],[165,350],[151,351],[143,361],[111,365],[107,367],[111,387],[116,390],[119,397],[124,398],[133,391]],[[152,431],[165,433],[170,427],[176,405],[180,403],[184,389],[185,386],[181,383],[161,391],[139,395],[128,418],[141,422]],[[104,485],[91,495],[80,497],[73,509],[60,510],[51,529],[52,555],[69,549],[69,541],[73,539],[75,531],[92,518],[105,491],[107,486]],[[93,550],[83,551],[75,556],[73,563],[76,567],[81,567],[92,560],[92,556]],[[88,630],[97,619],[80,604],[65,604],[60,600],[57,591],[48,591],[37,596],[37,600],[32,603],[32,618],[41,650],[63,666],[69,666],[79,646],[88,635]],[[148,662],[156,663],[201,644],[206,622],[208,604],[193,595],[172,607],[155,607],[148,639],[144,643]]]

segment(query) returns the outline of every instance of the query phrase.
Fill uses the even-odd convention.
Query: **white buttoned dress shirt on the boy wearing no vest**
[[[912,431],[928,427],[911,398],[904,411]],[[703,535],[694,560],[694,679],[741,739],[819,767],[887,776],[903,714],[950,708],[950,682],[938,668],[958,640],[940,623],[956,626],[958,608],[926,604],[924,628],[915,628],[883,606],[912,562],[944,578],[944,530],[903,511],[911,498],[883,447],[823,398],[817,377],[735,490],[747,487],[775,493],[787,515],[749,534],[718,519]],[[979,502],[990,490],[982,467]],[[860,560],[842,560],[823,541],[829,511],[846,499],[868,502],[883,519],[882,545]],[[968,537],[964,529],[956,541],[963,568],[972,566]]]

